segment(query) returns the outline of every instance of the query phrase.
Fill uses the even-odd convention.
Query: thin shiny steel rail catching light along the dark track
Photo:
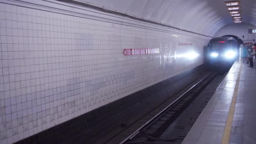
[[[152,121],[154,121],[157,117],[159,117],[160,115],[162,115],[167,109],[169,109],[170,107],[172,107],[176,102],[178,102],[179,100],[181,100],[181,98],[183,98],[184,96],[186,96],[187,93],[189,93],[190,91],[192,91],[197,85],[199,85],[200,83],[202,83],[206,78],[208,78],[213,72],[210,72],[208,75],[206,75],[202,80],[200,80],[199,82],[197,82],[195,85],[193,85],[191,88],[189,88],[189,90],[187,90],[185,93],[183,93],[181,96],[179,96],[178,99],[176,99],[175,101],[173,101],[171,104],[169,104],[167,107],[165,107],[165,109],[163,109],[161,112],[159,112],[157,115],[155,115],[154,117],[152,117],[149,121],[147,121],[147,123],[145,123],[144,125],[142,125],[140,128],[138,128],[136,131],[134,131],[130,136],[128,136],[126,139],[124,139],[122,142],[120,142],[120,144],[125,144],[125,142],[127,142],[128,140],[132,139],[134,136],[136,136],[141,129],[145,128],[147,125],[149,125],[149,123],[151,123]]]

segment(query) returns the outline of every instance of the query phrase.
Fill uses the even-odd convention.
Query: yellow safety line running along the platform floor
[[[242,59],[242,61],[243,61],[243,59]],[[242,69],[242,61],[240,62],[240,68],[239,68],[239,72],[238,72],[238,76],[237,76],[237,80],[236,80],[236,84],[235,84],[235,89],[234,89],[231,105],[229,107],[229,114],[227,116],[227,122],[226,122],[224,133],[222,136],[221,144],[229,144],[229,138],[230,138],[231,128],[232,128],[232,121],[233,121],[234,112],[235,112],[235,103],[237,100],[237,92],[238,92],[239,80],[240,80],[241,69]]]

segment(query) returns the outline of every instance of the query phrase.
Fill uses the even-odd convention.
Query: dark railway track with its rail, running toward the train
[[[173,142],[177,139],[159,139],[174,120],[186,109],[191,101],[216,77],[216,72],[210,72],[199,82],[187,89],[183,94],[174,96],[171,104],[148,120],[139,129],[124,139],[120,144],[155,144],[155,141]],[[184,139],[181,137],[180,139]]]

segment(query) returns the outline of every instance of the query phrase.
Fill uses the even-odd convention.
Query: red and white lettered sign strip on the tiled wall
[[[124,56],[134,56],[142,54],[159,53],[159,48],[136,48],[136,49],[123,49]]]

